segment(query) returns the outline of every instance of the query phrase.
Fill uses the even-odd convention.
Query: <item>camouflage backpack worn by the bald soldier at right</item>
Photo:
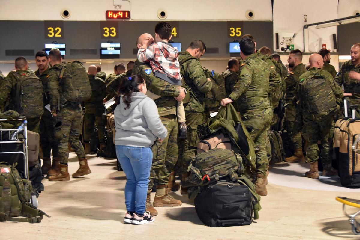
[[[336,97],[330,83],[320,74],[312,73],[299,82],[300,101],[306,107],[314,120],[321,121],[323,117],[333,116],[339,110]]]

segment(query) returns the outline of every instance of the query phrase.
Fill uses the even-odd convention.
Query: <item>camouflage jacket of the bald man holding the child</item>
[[[176,85],[172,85],[165,80],[155,77],[149,65],[140,63],[139,60],[135,61],[131,74],[143,77],[147,89],[156,95],[162,96],[154,101],[158,107],[160,116],[176,115],[177,101],[174,97],[180,95],[180,92],[176,89]]]

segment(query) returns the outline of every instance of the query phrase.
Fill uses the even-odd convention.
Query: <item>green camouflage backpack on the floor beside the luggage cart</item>
[[[4,165],[0,162],[0,221],[41,222],[48,214],[30,203],[31,181],[22,179],[16,165]],[[21,218],[15,218],[23,216]]]

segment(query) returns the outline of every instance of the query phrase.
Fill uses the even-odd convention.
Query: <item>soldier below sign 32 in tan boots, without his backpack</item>
[[[63,70],[66,70],[65,67],[68,66],[62,63],[60,51],[58,49],[52,49],[49,52],[49,60],[52,68],[50,68],[49,75],[47,76],[48,87],[46,88],[46,94],[50,100],[51,114],[55,117],[56,124],[54,131],[55,141],[58,145],[59,158],[59,161],[55,161],[54,164],[53,170],[55,171],[49,171],[51,175],[54,174],[49,177],[49,181],[68,181],[70,180],[68,172],[69,140],[71,147],[75,150],[76,155],[79,158],[80,164],[79,169],[72,177],[80,177],[91,173],[89,165],[87,165],[84,147],[79,139],[82,129],[82,107],[80,102],[71,102],[64,97],[64,93],[67,92],[66,89],[62,87],[61,83],[64,83],[60,83],[59,78],[60,73],[63,73]],[[78,63],[78,65],[82,66],[80,63]],[[62,75],[61,77],[64,76]],[[86,79],[81,80],[81,82],[86,82]]]

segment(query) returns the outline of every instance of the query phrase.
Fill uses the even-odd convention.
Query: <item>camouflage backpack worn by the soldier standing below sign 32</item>
[[[89,77],[79,61],[68,63],[61,69],[59,83],[67,101],[84,102],[91,97]]]

